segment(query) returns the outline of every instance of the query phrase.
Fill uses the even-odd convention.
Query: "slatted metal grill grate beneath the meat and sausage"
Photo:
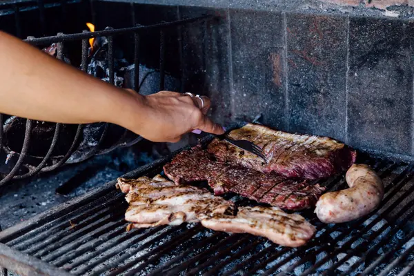
[[[153,176],[170,158],[125,177]],[[310,210],[302,212],[317,234],[299,248],[200,224],[126,232],[128,204],[112,181],[4,230],[0,265],[22,275],[33,270],[46,275],[413,275],[414,167],[377,157],[359,162],[373,166],[383,179],[382,206],[347,224],[322,224]],[[346,188],[344,176],[322,185]]]

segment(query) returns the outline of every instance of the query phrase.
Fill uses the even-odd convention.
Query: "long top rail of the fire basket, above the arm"
[[[158,23],[149,26],[135,26],[130,28],[119,28],[119,29],[112,29],[112,30],[100,30],[97,32],[88,32],[88,33],[77,33],[77,34],[64,34],[61,37],[52,36],[52,37],[30,37],[25,39],[24,41],[34,44],[34,45],[42,45],[48,43],[57,43],[61,41],[75,41],[80,39],[90,39],[92,37],[105,37],[110,35],[117,35],[117,34],[124,34],[128,32],[144,32],[148,30],[158,30],[164,28],[174,28],[176,26],[180,26],[183,24],[194,23],[197,21],[204,21],[207,19],[213,18],[211,15],[206,15],[202,17],[194,17],[191,19],[184,19],[179,21],[172,21],[167,23]]]

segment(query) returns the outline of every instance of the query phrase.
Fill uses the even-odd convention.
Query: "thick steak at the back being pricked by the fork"
[[[208,152],[220,161],[241,164],[262,172],[277,172],[285,177],[321,179],[344,172],[355,163],[356,152],[328,137],[297,135],[258,124],[233,130],[233,139],[246,139],[263,149],[267,164],[250,152],[226,141],[214,139]]]

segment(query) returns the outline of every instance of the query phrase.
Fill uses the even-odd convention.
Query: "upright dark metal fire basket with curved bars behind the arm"
[[[82,0],[84,1],[84,0]],[[49,3],[50,2],[50,3]],[[55,3],[56,2],[56,3]],[[92,3],[92,1],[90,1]],[[49,3],[49,5],[56,4],[59,5],[62,10],[65,10],[66,4],[72,3],[72,1],[69,0],[61,0],[61,1],[46,1],[46,3]],[[23,12],[23,7],[28,7],[30,5],[34,5],[35,8],[39,10],[39,22],[41,23],[41,26],[44,25],[45,19],[45,1],[43,0],[37,0],[37,1],[27,1],[27,2],[16,2],[16,3],[6,3],[3,5],[0,5],[0,12],[3,10],[10,10],[10,12],[14,12],[14,21],[15,21],[15,28],[17,30],[17,34],[19,34],[21,31],[21,13]],[[77,3],[75,1],[75,3]],[[80,2],[79,2],[80,3]],[[133,6],[132,6],[133,7]],[[91,8],[92,14],[93,14],[93,8]],[[130,9],[130,16],[134,18],[135,21],[135,10],[134,8]],[[79,46],[81,47],[81,66],[80,69],[84,72],[87,71],[88,68],[88,48],[89,43],[88,39],[92,37],[107,37],[108,39],[108,52],[106,55],[106,60],[108,61],[108,81],[112,84],[115,83],[115,73],[114,73],[114,38],[117,36],[121,36],[123,34],[134,34],[133,41],[134,43],[134,59],[133,64],[135,66],[134,69],[134,87],[133,89],[138,91],[139,90],[139,41],[141,34],[145,32],[158,32],[160,36],[160,43],[159,43],[159,90],[164,90],[164,80],[165,80],[165,55],[166,55],[166,35],[168,32],[171,32],[172,30],[181,30],[181,27],[187,26],[190,23],[197,23],[197,22],[203,22],[208,19],[211,19],[212,17],[209,15],[201,16],[201,17],[195,17],[190,19],[182,19],[177,21],[171,21],[171,22],[163,22],[163,23],[157,23],[150,26],[141,26],[137,23],[134,23],[132,27],[130,28],[119,28],[114,29],[107,27],[106,30],[96,31],[96,32],[90,32],[88,30],[83,30],[81,33],[75,33],[75,34],[63,34],[59,33],[55,36],[50,37],[28,37],[27,39],[24,39],[24,41],[34,45],[34,46],[50,46],[52,43],[57,44],[57,58],[63,59],[63,52],[65,51],[65,43],[69,41],[79,41]],[[43,26],[44,27],[44,26]],[[43,28],[44,29],[44,28]],[[181,57],[180,57],[181,58]],[[182,60],[180,60],[182,63]],[[136,86],[136,87],[135,87]],[[70,146],[68,147],[68,150],[65,154],[52,159],[52,152],[57,148],[58,140],[59,140],[59,133],[62,132],[63,124],[55,124],[55,130],[52,135],[52,139],[50,142],[50,146],[48,147],[48,150],[46,152],[46,155],[39,159],[39,162],[37,164],[27,164],[26,159],[32,158],[29,154],[29,149],[31,147],[36,147],[32,143],[32,129],[34,128],[34,122],[30,119],[26,119],[26,128],[24,131],[24,139],[23,144],[21,145],[21,150],[19,152],[14,152],[10,150],[10,148],[6,147],[4,145],[5,141],[5,133],[3,130],[3,124],[5,123],[5,116],[0,114],[0,148],[6,152],[8,156],[16,155],[16,161],[14,166],[12,168],[8,169],[7,172],[0,172],[0,186],[3,186],[4,184],[8,183],[11,180],[14,179],[24,179],[27,177],[31,177],[32,175],[35,175],[39,172],[49,172],[52,170],[55,170],[59,166],[62,166],[63,164],[68,161],[68,159],[71,157],[71,155],[77,150],[77,146],[79,145],[79,140],[82,137],[82,130],[84,125],[77,126],[77,130],[75,132],[75,135],[72,139],[72,142]],[[82,160],[87,159],[89,157],[92,157],[93,155],[106,153],[117,145],[130,145],[134,143],[133,141],[138,141],[140,137],[135,137],[132,139],[132,141],[128,140],[128,135],[130,135],[130,132],[128,130],[124,130],[123,134],[121,134],[119,137],[117,137],[117,140],[111,144],[110,148],[106,147],[104,148],[102,145],[104,141],[106,140],[106,137],[108,136],[108,128],[110,124],[104,124],[103,131],[101,135],[99,136],[99,139],[97,141],[97,144],[93,147],[93,149],[88,152],[86,156],[82,157]],[[130,139],[130,137],[128,138]],[[7,157],[8,158],[8,157]],[[6,159],[7,161],[7,159]],[[6,162],[7,164],[7,162]]]

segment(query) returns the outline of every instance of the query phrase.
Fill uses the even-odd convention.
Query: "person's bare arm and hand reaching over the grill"
[[[196,128],[221,134],[206,107],[175,92],[142,96],[117,88],[0,32],[0,112],[41,121],[106,121],[151,141],[178,141]]]

